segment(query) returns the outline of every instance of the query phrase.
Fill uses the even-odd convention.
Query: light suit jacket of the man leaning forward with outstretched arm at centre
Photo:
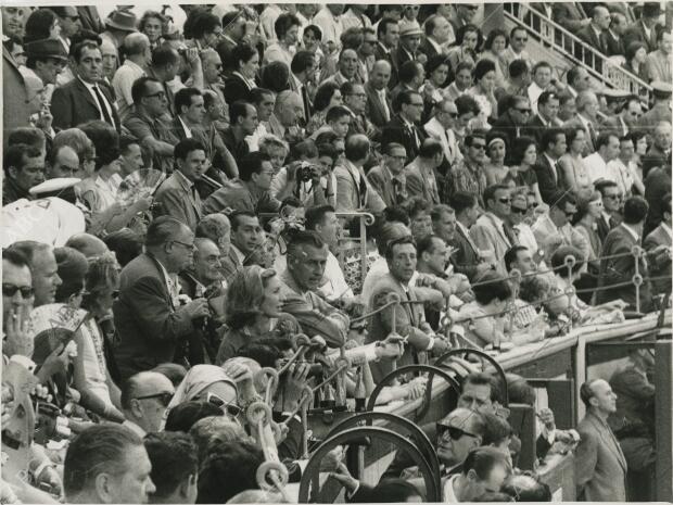
[[[379,308],[388,303],[388,296],[395,293],[401,300],[418,301],[422,296],[417,288],[409,287],[408,295],[402,285],[389,273],[385,274],[373,288],[371,298],[365,303],[370,310]],[[442,295],[437,291],[435,302],[442,303]],[[431,337],[419,329],[420,325],[426,321],[426,311],[423,305],[418,303],[402,304],[401,306],[390,306],[382,312],[376,314],[369,325],[369,333],[366,338],[367,343],[385,340],[393,328],[393,318],[395,320],[395,330],[403,337],[408,337],[409,345],[405,346],[404,354],[397,359],[398,366],[412,365],[414,363],[426,363],[427,356],[424,350],[430,344]],[[379,382],[385,375],[393,370],[393,362],[372,363],[371,374],[374,382]]]

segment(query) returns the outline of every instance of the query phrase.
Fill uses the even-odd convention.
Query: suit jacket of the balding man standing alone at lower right
[[[575,450],[577,500],[626,501],[626,459],[606,422],[588,413],[577,425],[580,445]]]

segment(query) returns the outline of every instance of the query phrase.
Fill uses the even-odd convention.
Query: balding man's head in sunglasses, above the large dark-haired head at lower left
[[[124,425],[140,437],[158,431],[174,394],[170,380],[156,371],[141,371],[129,377],[122,384]]]

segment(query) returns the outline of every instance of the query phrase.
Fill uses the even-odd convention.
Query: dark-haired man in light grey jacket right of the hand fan
[[[201,197],[194,187],[205,173],[205,148],[195,139],[180,140],[175,147],[177,169],[156,191],[160,215],[175,217],[190,229],[196,229],[202,216]]]

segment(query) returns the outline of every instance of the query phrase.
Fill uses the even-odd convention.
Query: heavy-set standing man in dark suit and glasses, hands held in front
[[[148,228],[145,253],[122,270],[113,314],[119,339],[115,358],[122,379],[172,362],[195,331],[194,320],[209,314],[207,300],[180,306],[177,274],[192,262],[194,233],[163,216]]]

